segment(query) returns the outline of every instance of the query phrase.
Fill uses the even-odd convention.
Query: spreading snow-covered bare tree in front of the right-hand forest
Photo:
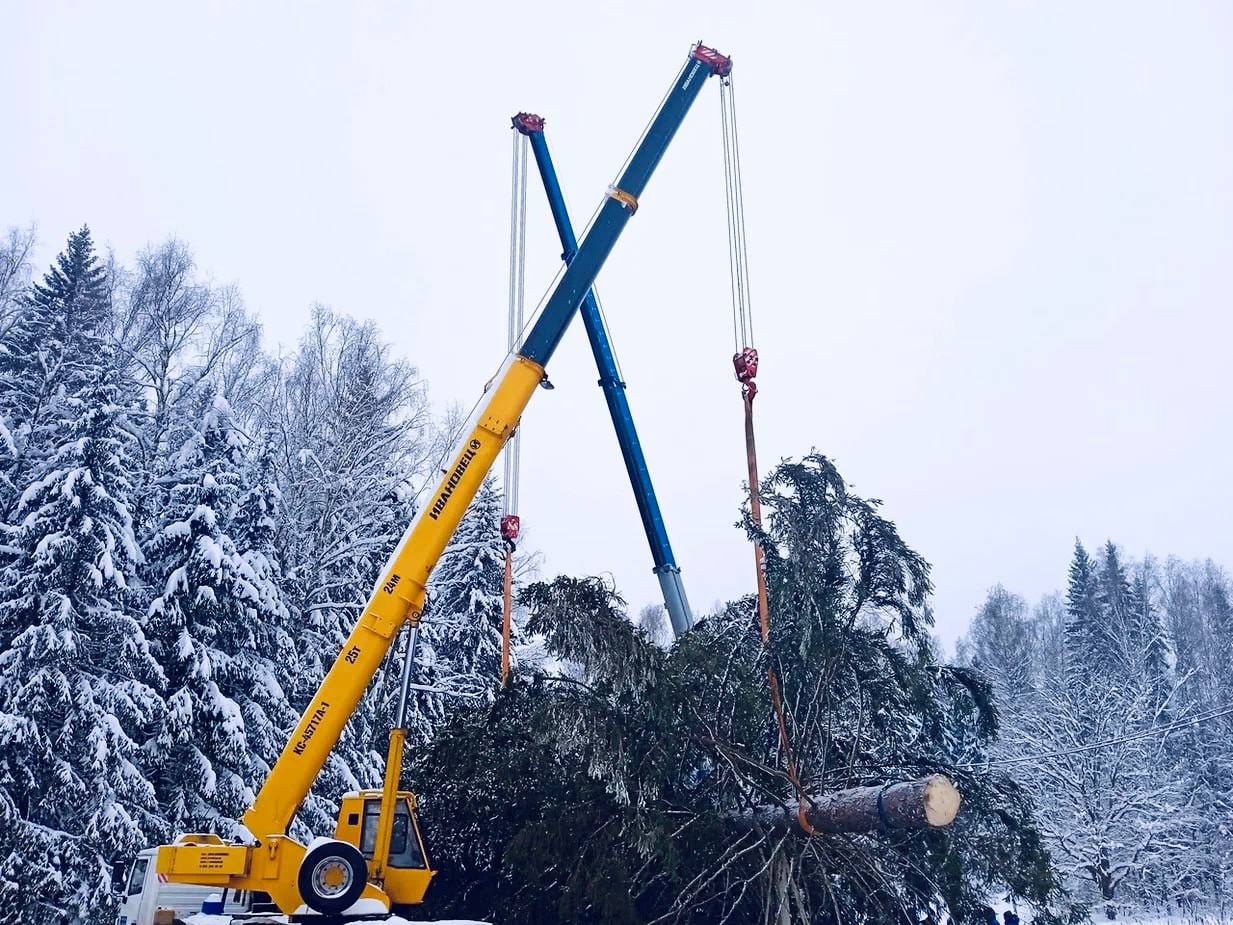
[[[995,678],[1009,709],[994,755],[1033,756],[1016,767],[1054,860],[1075,882],[1090,884],[1113,919],[1129,884],[1139,895],[1150,892],[1144,878],[1176,873],[1187,851],[1195,793],[1186,784],[1181,736],[1153,730],[1185,715],[1189,678],[1170,675],[1161,689],[1160,678],[1139,670],[1068,684],[1051,655],[1064,633],[1055,609],[1047,601],[1037,610],[1036,672],[1014,688]],[[1129,638],[1118,643],[1143,665],[1155,640],[1141,638],[1138,655],[1129,652]]]

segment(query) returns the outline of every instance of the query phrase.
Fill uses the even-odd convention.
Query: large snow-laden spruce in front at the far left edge
[[[132,438],[110,352],[96,363],[44,418],[0,582],[0,906],[28,921],[109,920],[106,860],[162,828],[138,754],[163,704],[132,617]]]

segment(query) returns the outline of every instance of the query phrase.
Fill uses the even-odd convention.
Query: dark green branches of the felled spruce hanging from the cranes
[[[441,874],[434,911],[525,923],[975,921],[986,897],[1053,890],[1025,798],[975,775],[988,687],[937,662],[928,566],[829,460],[762,486],[772,638],[752,598],[667,652],[596,578],[529,586],[528,631],[563,666],[462,709],[414,768]],[[800,789],[768,699],[784,693]],[[941,772],[944,830],[806,835],[798,800]],[[1047,913],[1046,913],[1047,916]],[[1038,919],[1041,920],[1041,919]]]

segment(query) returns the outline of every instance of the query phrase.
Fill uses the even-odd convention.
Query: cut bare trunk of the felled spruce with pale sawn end
[[[932,775],[919,781],[822,793],[808,804],[806,816],[816,832],[936,829],[954,821],[959,802],[959,791],[949,778]],[[795,807],[761,807],[743,819],[766,828],[799,828]]]

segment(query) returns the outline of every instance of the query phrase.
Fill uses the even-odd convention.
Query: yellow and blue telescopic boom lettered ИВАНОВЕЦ
[[[522,350],[493,380],[454,450],[435,493],[403,535],[343,651],[306,709],[252,808],[249,831],[265,841],[286,834],[317,773],[404,623],[419,624],[428,576],[457,528],[501,448],[513,433],[565,329],[637,208],[637,199],[667,150],[702,85],[727,74],[730,59],[695,46],[629,165],[608,192],[594,224],[544,306]]]

